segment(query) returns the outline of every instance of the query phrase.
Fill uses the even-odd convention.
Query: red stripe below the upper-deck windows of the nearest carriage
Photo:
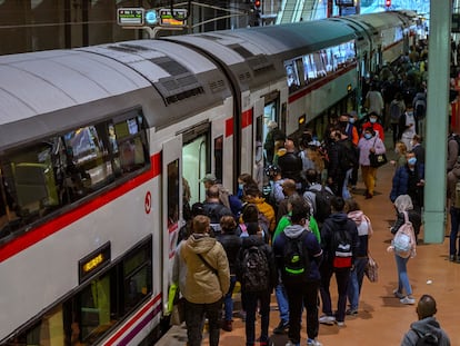
[[[113,188],[112,190],[107,191],[106,194],[98,196],[94,199],[89,200],[88,202],[79,206],[78,208],[72,209],[63,215],[60,215],[57,218],[50,220],[49,223],[38,226],[37,228],[33,228],[27,231],[26,234],[19,236],[18,238],[4,244],[3,247],[0,248],[0,263],[19,254],[28,247],[43,240],[44,238],[73,224],[82,217],[93,212],[94,210],[106,206],[107,204],[111,202],[118,197],[141,186],[146,181],[159,176],[161,172],[161,154],[159,152],[153,155],[150,158],[150,162],[151,169],[149,171],[146,171],[144,174],[132,178],[126,184],[120,185]]]

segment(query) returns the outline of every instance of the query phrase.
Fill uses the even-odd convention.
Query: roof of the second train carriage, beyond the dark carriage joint
[[[162,38],[212,56],[238,76],[242,90],[286,78],[284,61],[356,38],[342,22],[317,20]]]

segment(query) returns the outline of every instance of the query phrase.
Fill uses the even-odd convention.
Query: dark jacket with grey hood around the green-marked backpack
[[[283,257],[284,257],[284,246],[287,238],[297,238],[304,231],[304,227],[300,225],[290,225],[287,226],[282,234],[274,238],[273,243],[273,253],[277,260],[277,265],[280,269],[283,267]],[[307,231],[307,235],[303,237],[303,247],[307,248],[307,254],[310,261],[310,273],[308,276],[309,280],[319,280],[320,273],[319,266],[322,260],[322,249],[318,243],[317,237],[311,233]]]

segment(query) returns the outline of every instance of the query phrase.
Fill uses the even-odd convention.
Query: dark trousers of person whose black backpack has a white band
[[[343,322],[347,309],[347,289],[348,280],[350,278],[350,268],[332,268],[330,264],[323,264],[321,267],[320,294],[322,300],[322,312],[328,316],[333,316],[329,287],[332,274],[336,274],[337,290],[339,294],[336,319],[338,322]]]

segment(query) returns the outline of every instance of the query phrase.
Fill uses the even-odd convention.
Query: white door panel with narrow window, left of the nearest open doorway
[[[161,181],[162,301],[168,303],[172,261],[182,215],[182,135],[163,144]]]

